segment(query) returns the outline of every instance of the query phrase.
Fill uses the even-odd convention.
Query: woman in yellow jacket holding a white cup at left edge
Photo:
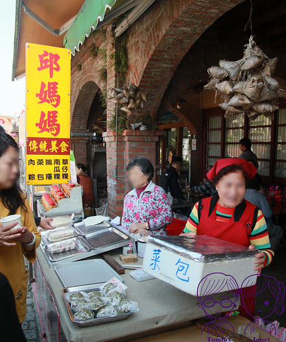
[[[41,236],[36,229],[27,197],[19,187],[18,163],[18,145],[10,135],[0,133],[0,219],[20,214],[22,221],[21,228],[14,228],[16,223],[5,226],[0,223],[0,272],[12,286],[16,311],[22,323],[27,312],[28,282],[23,256],[30,262],[36,259]]]

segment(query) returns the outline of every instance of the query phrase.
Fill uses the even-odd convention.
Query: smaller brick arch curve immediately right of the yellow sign
[[[99,86],[93,81],[88,81],[81,88],[79,88],[79,93],[77,99],[73,106],[72,121],[71,121],[71,131],[83,132],[86,130],[86,125],[88,123],[88,114],[90,112],[90,106],[94,96],[99,91]]]

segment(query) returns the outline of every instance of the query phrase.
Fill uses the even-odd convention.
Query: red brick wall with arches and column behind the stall
[[[158,110],[174,108],[174,99],[164,98],[164,93],[170,80],[177,70],[179,63],[190,50],[194,42],[203,32],[222,14],[233,8],[242,0],[157,0],[144,15],[127,30],[129,73],[127,82],[133,82],[146,92],[148,101],[145,108],[136,114],[151,113],[153,117]],[[91,36],[86,39],[79,53],[72,59],[72,88],[71,113],[72,130],[86,129],[88,112],[96,91],[117,86],[114,65],[109,56],[114,53],[112,45],[111,27],[107,27],[106,36]],[[89,56],[92,42],[100,48],[107,49],[107,84],[99,77],[102,66],[101,57]],[[81,71],[77,69],[81,64]],[[193,66],[196,67],[196,66]],[[201,68],[205,73],[205,67]],[[177,82],[183,80],[177,79]],[[182,82],[184,84],[184,82]],[[184,90],[180,87],[180,90]],[[178,84],[168,88],[172,94]],[[183,91],[181,91],[182,93]],[[201,115],[199,110],[198,93],[190,92],[185,88],[185,97],[188,101],[182,103],[182,108],[175,114],[185,122],[192,134],[198,138],[198,147],[201,145]],[[112,101],[107,100],[107,121],[114,110]],[[160,112],[160,110],[159,110]],[[110,215],[121,215],[122,200],[127,192],[125,167],[133,156],[144,155],[151,159],[156,169],[159,169],[159,136],[148,136],[140,131],[125,132],[118,135],[117,175],[115,175],[115,135],[113,132],[105,135],[107,142],[107,185]],[[83,145],[79,142],[75,146],[76,158],[84,157]],[[194,179],[199,178],[197,168],[200,167],[200,147],[192,154]],[[78,160],[77,160],[78,161]]]

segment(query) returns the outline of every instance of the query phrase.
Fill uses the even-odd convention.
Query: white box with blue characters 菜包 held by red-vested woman
[[[190,295],[210,295],[255,284],[257,252],[205,235],[149,236],[143,271]]]

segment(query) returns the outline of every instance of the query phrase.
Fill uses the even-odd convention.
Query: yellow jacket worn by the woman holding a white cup
[[[22,323],[26,317],[26,299],[27,299],[27,285],[28,285],[28,271],[25,268],[24,257],[30,262],[36,260],[36,248],[40,245],[41,235],[37,231],[33,212],[29,206],[27,198],[25,199],[27,212],[23,208],[18,208],[16,214],[21,215],[22,225],[27,227],[30,232],[36,236],[36,245],[33,251],[25,252],[21,243],[16,243],[16,246],[0,246],[0,272],[3,273],[9,280],[12,286],[16,310],[20,322]],[[0,218],[9,215],[9,210],[5,208],[0,201]]]

